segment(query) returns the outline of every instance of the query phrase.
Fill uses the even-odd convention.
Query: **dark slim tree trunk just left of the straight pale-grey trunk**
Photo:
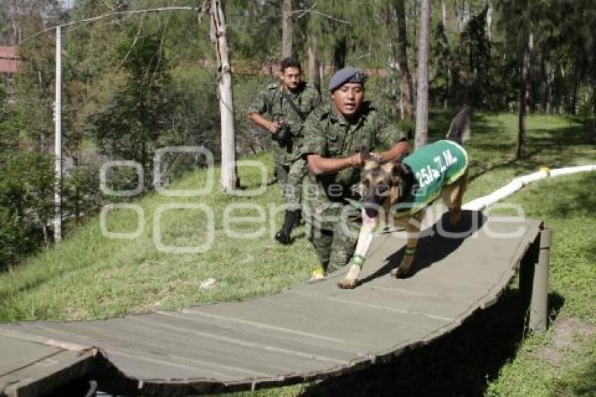
[[[409,74],[407,65],[407,27],[405,22],[405,4],[404,0],[395,1],[395,16],[398,25],[398,46],[396,58],[398,60],[398,69],[401,75],[400,80],[400,113],[402,120],[412,118],[412,104],[414,88],[412,87],[412,75]]]

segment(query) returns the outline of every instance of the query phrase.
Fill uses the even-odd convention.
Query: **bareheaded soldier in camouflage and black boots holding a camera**
[[[280,83],[270,84],[259,93],[248,111],[250,121],[271,133],[275,174],[286,208],[283,225],[275,237],[283,244],[290,243],[290,233],[299,223],[302,180],[308,173],[306,161],[298,154],[304,142],[302,126],[319,104],[316,88],[302,81],[300,62],[285,58],[281,62]]]

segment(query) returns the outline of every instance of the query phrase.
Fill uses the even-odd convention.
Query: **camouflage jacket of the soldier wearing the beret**
[[[370,151],[386,150],[405,140],[405,134],[374,108],[370,102],[363,102],[355,120],[348,122],[334,111],[333,105],[315,109],[304,123],[304,144],[299,154],[320,154],[320,156],[341,159],[358,152],[361,147]],[[305,204],[309,212],[331,215],[330,208],[346,204],[346,198],[358,199],[355,187],[360,182],[360,168],[350,167],[338,173],[309,175],[305,181]],[[336,203],[334,205],[334,203]],[[329,226],[329,225],[327,225]],[[325,225],[323,229],[327,229]]]

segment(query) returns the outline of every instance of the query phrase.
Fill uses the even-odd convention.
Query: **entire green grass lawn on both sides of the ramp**
[[[452,113],[431,116],[431,140],[447,129]],[[596,145],[580,121],[531,116],[527,159],[514,161],[517,118],[513,114],[475,114],[466,201],[488,194],[517,175],[540,166],[596,163]],[[268,154],[251,158],[271,169]],[[257,189],[261,173],[239,170],[245,192]],[[189,173],[169,189],[197,189],[205,172]],[[47,250],[0,274],[0,321],[90,319],[133,311],[179,309],[206,302],[245,300],[290,288],[309,276],[316,256],[304,238],[282,247],[272,239],[281,213],[278,185],[249,197],[224,196],[215,188],[203,196],[152,194],[134,202],[144,227],[134,239],[102,236],[99,217],[81,227],[60,248]],[[550,262],[552,327],[544,335],[524,334],[524,308],[515,285],[498,304],[471,317],[429,346],[386,365],[309,385],[259,391],[261,396],[595,396],[596,395],[596,175],[585,173],[536,182],[506,202],[553,229]],[[168,209],[164,205],[205,205]],[[237,222],[224,225],[235,204]],[[250,205],[250,206],[247,206]],[[258,208],[263,208],[259,210]],[[278,209],[278,208],[277,208]],[[161,212],[161,217],[157,215]],[[241,217],[252,217],[252,222]],[[271,224],[274,220],[276,224]],[[111,210],[104,229],[131,234],[140,214]],[[189,247],[209,242],[204,253],[167,253],[157,243]],[[254,234],[238,239],[236,234]],[[201,289],[208,278],[215,287]],[[244,394],[244,393],[240,393]],[[248,393],[246,393],[248,394]]]

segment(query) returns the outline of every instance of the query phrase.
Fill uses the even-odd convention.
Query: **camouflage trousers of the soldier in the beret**
[[[319,212],[318,215],[325,217],[324,222],[318,222],[318,216],[313,216],[308,206],[305,212],[306,235],[315,248],[321,266],[329,273],[346,266],[354,254],[362,224],[358,211],[339,204]]]

